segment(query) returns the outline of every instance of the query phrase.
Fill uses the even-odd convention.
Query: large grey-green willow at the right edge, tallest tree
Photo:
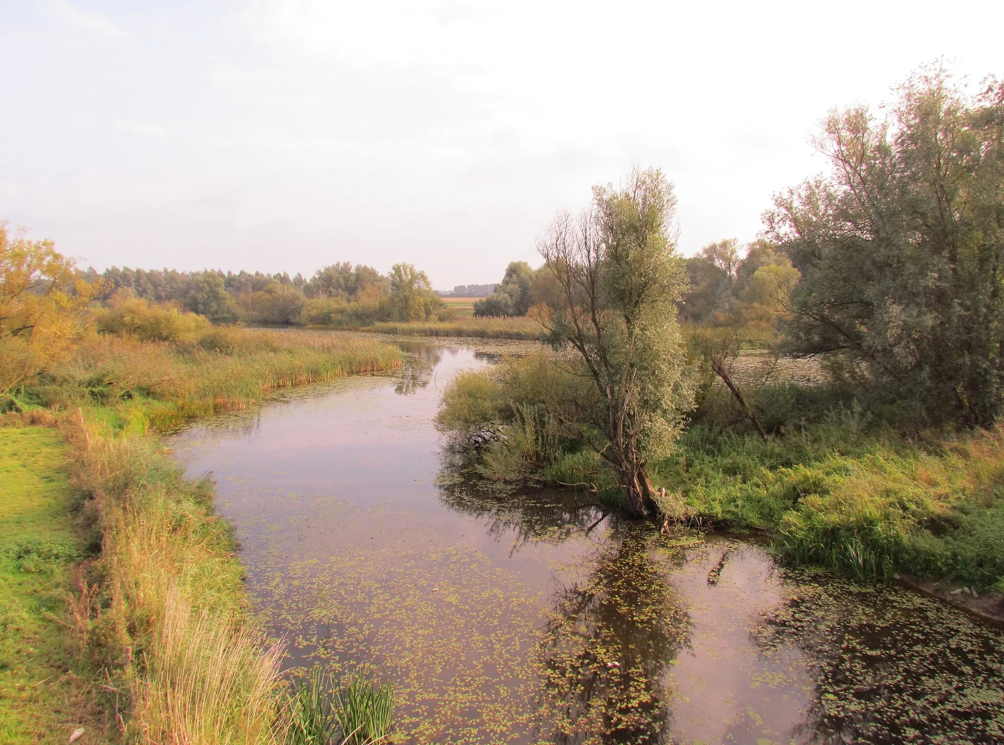
[[[976,96],[941,69],[888,117],[833,111],[830,173],[780,195],[767,234],[802,279],[795,354],[864,362],[928,421],[989,425],[1004,410],[1004,83]]]

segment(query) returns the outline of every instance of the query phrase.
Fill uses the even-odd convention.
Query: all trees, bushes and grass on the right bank
[[[488,477],[665,529],[1004,590],[1002,132],[1004,85],[922,70],[887,117],[824,120],[829,174],[778,195],[760,239],[691,259],[658,172],[594,188],[528,285],[553,351],[458,377],[439,426]]]

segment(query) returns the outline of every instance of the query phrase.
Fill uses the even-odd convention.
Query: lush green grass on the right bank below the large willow
[[[1004,591],[1004,433],[909,440],[859,414],[768,442],[695,425],[658,479],[705,521],[762,528],[791,561]]]

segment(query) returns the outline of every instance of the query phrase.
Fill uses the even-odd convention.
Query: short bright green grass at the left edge
[[[53,620],[81,555],[66,451],[57,430],[0,428],[0,743],[65,743],[86,716]]]

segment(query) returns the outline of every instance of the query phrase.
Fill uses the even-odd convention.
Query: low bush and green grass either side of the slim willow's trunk
[[[861,579],[1004,591],[1004,431],[918,432],[909,412],[871,402],[869,413],[847,388],[747,393],[767,441],[711,385],[672,454],[649,464],[671,521],[765,530],[788,560]],[[489,478],[578,484],[616,508],[601,437],[576,424],[592,395],[542,355],[505,359],[459,376],[438,422]]]

